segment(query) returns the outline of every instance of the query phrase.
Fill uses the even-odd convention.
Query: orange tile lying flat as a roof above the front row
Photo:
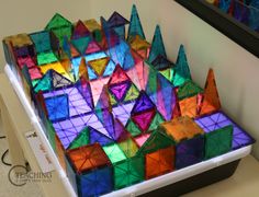
[[[160,128],[170,137],[180,142],[184,139],[191,139],[196,135],[203,135],[204,131],[196,123],[188,116],[181,116],[171,121],[162,123]]]

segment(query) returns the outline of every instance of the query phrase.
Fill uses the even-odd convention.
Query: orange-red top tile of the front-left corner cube
[[[109,158],[99,143],[68,150],[67,155],[78,173],[110,164]]]

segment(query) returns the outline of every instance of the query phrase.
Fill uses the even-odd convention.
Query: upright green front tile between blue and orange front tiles
[[[134,157],[113,165],[114,187],[120,189],[144,181],[145,163],[143,157]]]

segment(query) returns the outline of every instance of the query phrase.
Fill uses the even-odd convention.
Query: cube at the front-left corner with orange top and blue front
[[[67,151],[67,174],[78,196],[100,196],[113,189],[109,158],[99,143]]]

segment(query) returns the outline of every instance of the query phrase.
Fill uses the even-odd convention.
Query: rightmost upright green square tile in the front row
[[[205,135],[205,159],[224,154],[232,150],[233,126],[207,132]]]

